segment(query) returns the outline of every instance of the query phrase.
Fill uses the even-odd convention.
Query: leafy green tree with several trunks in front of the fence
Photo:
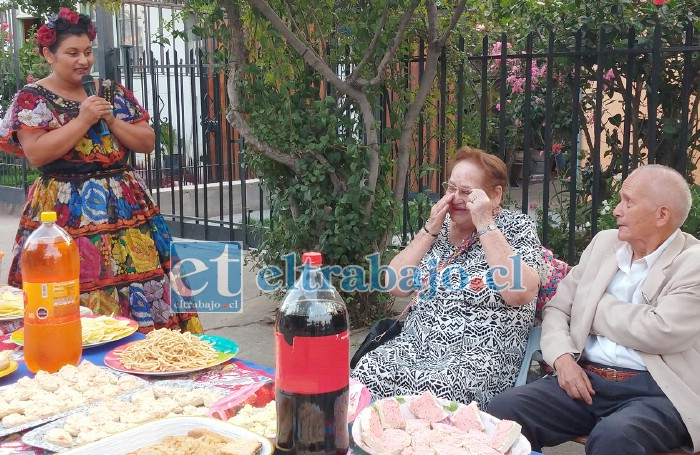
[[[416,122],[466,0],[187,3],[191,30],[222,44],[229,122],[273,198],[257,258],[320,249],[330,264],[385,252],[403,200]],[[407,71],[425,46],[422,79]],[[388,93],[392,96],[387,97]],[[382,109],[385,108],[385,109]],[[380,122],[387,122],[380,136]],[[395,157],[395,158],[394,158]],[[346,295],[371,319],[378,296]],[[366,320],[365,320],[366,321]]]

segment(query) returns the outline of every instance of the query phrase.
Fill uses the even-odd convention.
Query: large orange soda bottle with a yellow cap
[[[24,359],[33,373],[77,365],[80,328],[80,254],[73,238],[56,226],[56,212],[42,212],[42,225],[22,246]]]

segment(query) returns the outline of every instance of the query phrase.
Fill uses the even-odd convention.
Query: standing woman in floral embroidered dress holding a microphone
[[[40,225],[41,212],[55,211],[80,249],[82,305],[132,318],[142,332],[167,327],[201,333],[188,302],[179,298],[171,306],[172,238],[127,163],[129,151],[154,148],[149,114],[118,83],[95,79],[96,96],[83,88],[94,39],[89,16],[68,8],[52,15],[37,31],[51,74],[24,86],[0,123],[0,150],[26,157],[41,172],[27,194],[9,284],[22,286],[22,245]],[[99,120],[108,135],[100,134]]]

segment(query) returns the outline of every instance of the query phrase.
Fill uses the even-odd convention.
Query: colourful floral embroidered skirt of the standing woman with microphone
[[[132,170],[38,178],[20,220],[9,284],[22,286],[22,244],[41,224],[41,212],[55,211],[57,224],[80,250],[81,305],[95,314],[134,319],[141,332],[167,327],[202,333],[188,302],[178,307],[191,311],[171,310],[172,237],[145,188]]]

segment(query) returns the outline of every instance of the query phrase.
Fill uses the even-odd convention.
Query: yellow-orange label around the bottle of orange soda
[[[22,282],[24,319],[32,324],[64,324],[80,318],[78,311],[60,311],[66,305],[79,305],[78,280],[59,283]],[[66,307],[67,308],[67,307]]]

